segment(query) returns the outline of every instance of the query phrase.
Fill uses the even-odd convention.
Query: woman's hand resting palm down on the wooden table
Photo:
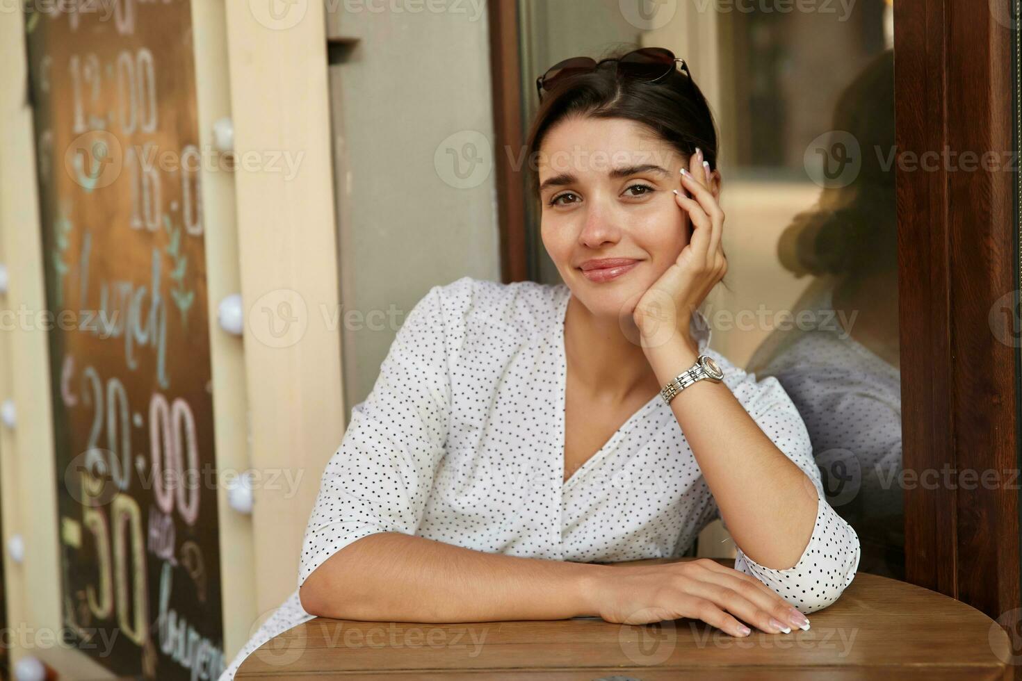
[[[594,612],[607,622],[691,618],[732,636],[751,633],[739,620],[772,634],[808,626],[804,615],[758,579],[709,558],[608,567],[589,594]]]

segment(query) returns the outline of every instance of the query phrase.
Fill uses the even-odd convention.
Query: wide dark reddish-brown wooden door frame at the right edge
[[[896,174],[904,469],[939,472],[904,489],[907,578],[993,618],[1020,604],[1015,175],[961,154],[1015,150],[1013,1],[894,3],[898,153],[959,155]]]

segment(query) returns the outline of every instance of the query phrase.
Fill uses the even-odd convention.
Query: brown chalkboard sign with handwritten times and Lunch
[[[231,0],[232,2],[234,0]],[[188,0],[26,3],[65,643],[224,669]]]

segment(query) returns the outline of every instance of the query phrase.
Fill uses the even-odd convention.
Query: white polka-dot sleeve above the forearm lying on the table
[[[299,587],[356,539],[418,529],[450,425],[443,314],[434,286],[398,330],[369,396],[352,408],[306,528]]]

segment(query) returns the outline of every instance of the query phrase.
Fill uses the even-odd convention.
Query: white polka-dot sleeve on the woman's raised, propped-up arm
[[[756,382],[755,375],[749,374],[731,387],[756,425],[808,476],[817,491],[816,524],[798,563],[787,570],[765,568],[738,546],[735,569],[756,577],[801,613],[827,607],[855,577],[858,536],[827,503],[808,431],[778,380],[771,377]],[[715,501],[713,504],[715,517],[724,522],[719,506]]]

